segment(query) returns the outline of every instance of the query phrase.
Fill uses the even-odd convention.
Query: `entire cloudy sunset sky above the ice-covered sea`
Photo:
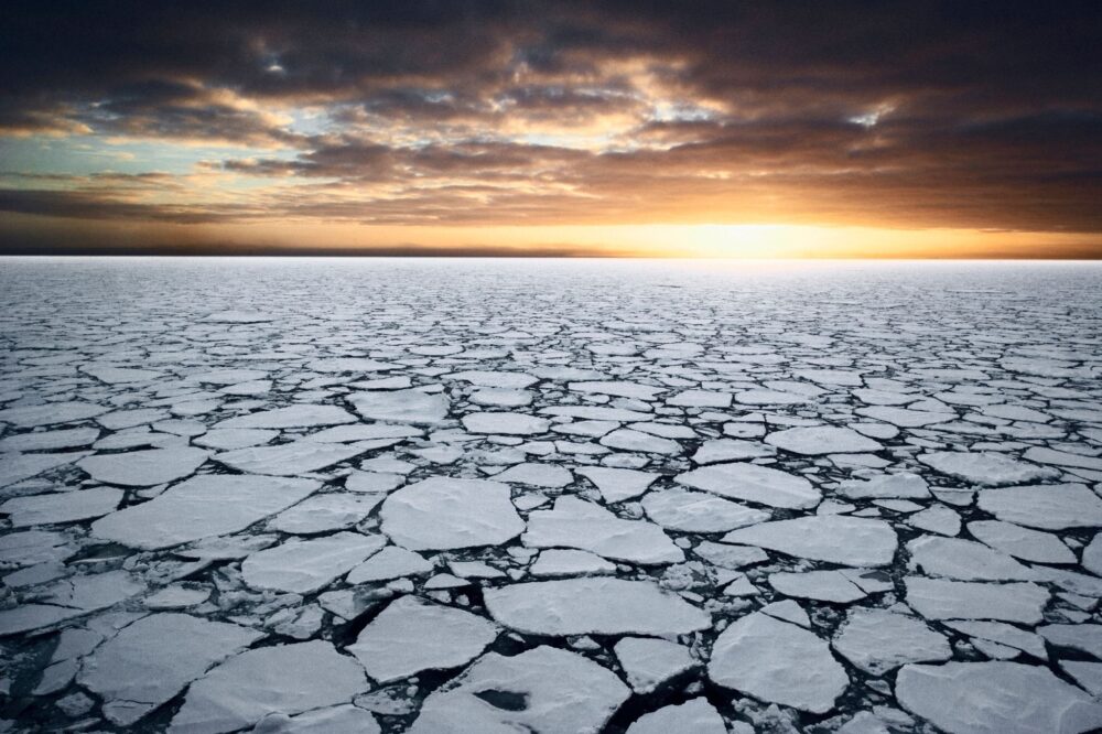
[[[1099,2],[43,2],[0,252],[1102,258]]]

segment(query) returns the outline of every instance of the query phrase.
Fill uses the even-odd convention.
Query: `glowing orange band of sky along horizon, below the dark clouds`
[[[733,259],[1095,259],[1090,234],[895,229],[791,224],[622,224],[562,226],[402,226],[263,222],[173,225],[47,219],[17,215],[0,237],[46,233],[89,253],[323,253],[651,257]],[[105,248],[104,241],[112,242]]]

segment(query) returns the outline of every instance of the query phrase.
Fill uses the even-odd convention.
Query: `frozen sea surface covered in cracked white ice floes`
[[[1102,728],[1102,267],[0,259],[0,732]]]

